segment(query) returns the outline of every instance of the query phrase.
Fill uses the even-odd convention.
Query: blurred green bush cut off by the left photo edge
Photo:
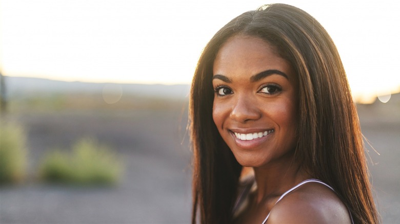
[[[0,126],[0,184],[22,182],[27,167],[26,133],[16,123]]]

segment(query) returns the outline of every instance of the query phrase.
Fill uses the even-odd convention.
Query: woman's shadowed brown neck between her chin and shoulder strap
[[[274,163],[265,167],[254,167],[257,183],[256,204],[281,196],[296,184],[310,178],[298,163]]]

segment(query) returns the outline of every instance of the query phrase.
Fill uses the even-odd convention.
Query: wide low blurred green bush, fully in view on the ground
[[[76,142],[72,151],[48,152],[39,167],[44,181],[72,185],[115,185],[123,165],[117,156],[95,139]]]

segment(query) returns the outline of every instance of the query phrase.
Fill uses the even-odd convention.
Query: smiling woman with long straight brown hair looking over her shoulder
[[[379,221],[341,59],[306,12],[267,5],[219,30],[197,64],[190,119],[193,223]]]

